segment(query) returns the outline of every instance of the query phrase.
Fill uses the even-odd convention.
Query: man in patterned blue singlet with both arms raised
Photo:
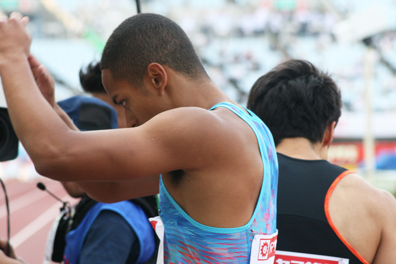
[[[37,88],[26,22],[19,14],[0,21],[0,76],[15,131],[40,174],[79,181],[102,202],[156,194],[159,182],[166,263],[273,262],[272,136],[210,80],[175,22],[140,14],[115,29],[102,80],[130,128],[86,132],[69,128]]]

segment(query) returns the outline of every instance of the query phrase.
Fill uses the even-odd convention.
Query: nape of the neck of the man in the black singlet
[[[322,146],[320,143],[313,144],[306,138],[286,138],[276,147],[276,151],[283,155],[306,160],[321,158]]]

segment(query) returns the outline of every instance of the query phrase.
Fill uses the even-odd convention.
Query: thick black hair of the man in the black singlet
[[[285,138],[322,141],[341,116],[341,92],[333,79],[305,60],[288,60],[261,76],[249,93],[248,109],[268,126],[275,145]]]

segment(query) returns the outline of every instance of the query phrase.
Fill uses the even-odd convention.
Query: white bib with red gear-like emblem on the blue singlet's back
[[[252,241],[250,264],[273,264],[278,230],[272,235],[255,235]]]

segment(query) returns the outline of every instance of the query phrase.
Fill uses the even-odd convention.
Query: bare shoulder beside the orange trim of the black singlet
[[[329,213],[343,239],[369,263],[396,259],[396,200],[356,174],[335,187]],[[381,253],[382,252],[382,253]],[[382,262],[377,262],[378,260]],[[386,260],[386,261],[384,261]]]

